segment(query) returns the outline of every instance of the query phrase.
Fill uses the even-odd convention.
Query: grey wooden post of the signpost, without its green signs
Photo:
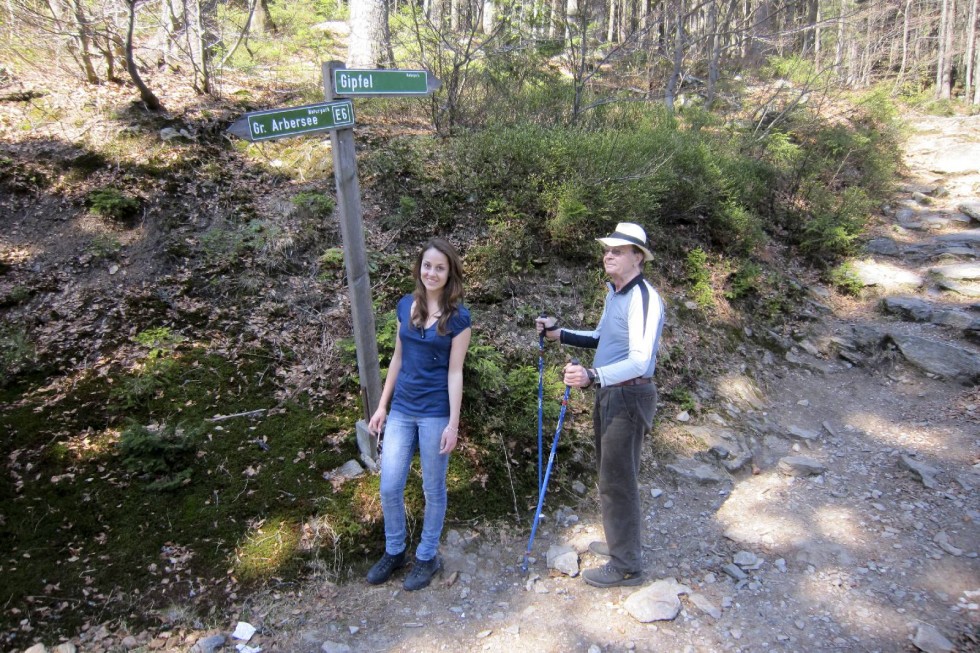
[[[337,99],[333,88],[333,69],[344,68],[339,61],[323,64],[323,92],[328,102]],[[351,127],[331,130],[334,179],[337,182],[337,206],[340,209],[340,234],[344,245],[344,266],[354,321],[354,343],[357,347],[357,371],[361,381],[361,401],[365,419],[381,400],[381,368],[378,363],[378,338],[371,302],[371,280],[368,276],[367,251],[364,246],[364,224],[361,189],[357,181],[357,157],[354,153],[354,130]],[[361,425],[359,425],[361,426]],[[366,427],[365,427],[366,429]],[[362,429],[358,444],[364,451]],[[371,438],[368,455],[377,459],[377,444]]]

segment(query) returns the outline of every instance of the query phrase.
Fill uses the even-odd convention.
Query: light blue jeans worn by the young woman
[[[397,555],[405,550],[405,483],[416,449],[422,461],[422,492],[425,517],[422,538],[415,557],[431,560],[439,551],[439,537],[446,519],[446,470],[449,454],[440,454],[445,417],[413,417],[398,411],[388,415],[381,448],[381,510],[385,517],[385,551]]]

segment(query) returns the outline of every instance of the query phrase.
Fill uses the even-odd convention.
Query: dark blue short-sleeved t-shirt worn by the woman
[[[398,301],[398,337],[402,341],[402,367],[395,382],[391,410],[416,417],[449,415],[449,353],[453,338],[470,328],[470,312],[458,306],[446,323],[446,335],[412,326],[412,295]]]

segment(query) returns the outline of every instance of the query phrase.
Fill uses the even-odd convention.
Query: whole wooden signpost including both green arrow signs
[[[381,400],[381,369],[354,152],[354,105],[351,100],[338,99],[338,96],[428,95],[439,88],[439,81],[424,70],[348,70],[338,61],[323,64],[322,72],[325,102],[246,113],[228,128],[228,132],[253,142],[330,132],[365,417],[357,423],[357,444],[362,459],[376,461],[377,443],[368,433],[366,419]]]

